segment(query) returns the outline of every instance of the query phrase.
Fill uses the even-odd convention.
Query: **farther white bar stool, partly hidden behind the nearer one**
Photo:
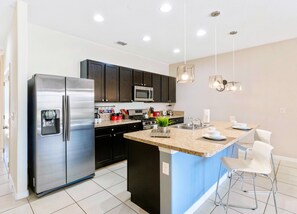
[[[271,132],[270,131],[266,131],[263,129],[256,129],[255,131],[255,137],[254,139],[257,141],[262,141],[264,143],[268,143],[269,145],[271,145]],[[236,143],[236,146],[239,150],[244,151],[244,159],[247,159],[248,154],[253,154],[253,144],[252,143],[245,143],[245,142],[238,142]],[[272,171],[273,171],[273,175],[274,175],[274,182],[275,182],[275,187],[276,187],[276,191],[278,190],[277,188],[277,179],[276,179],[276,170],[275,170],[275,165],[274,165],[274,159],[273,159],[273,155],[271,153],[271,165],[272,165]]]

